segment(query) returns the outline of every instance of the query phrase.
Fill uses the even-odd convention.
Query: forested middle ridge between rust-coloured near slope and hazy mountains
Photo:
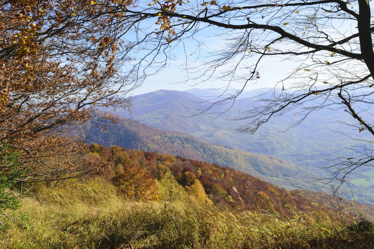
[[[312,179],[311,172],[276,157],[209,144],[187,133],[154,129],[120,117],[118,123],[107,129],[108,132],[104,132],[91,122],[82,130],[89,134],[89,142],[97,142],[99,145],[118,145],[133,150],[205,160],[232,167],[288,189],[312,188],[312,185],[303,182]]]

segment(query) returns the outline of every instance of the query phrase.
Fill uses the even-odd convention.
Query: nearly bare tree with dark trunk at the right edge
[[[196,41],[192,49],[191,43],[184,47],[186,53],[194,49],[202,51],[199,37],[213,34],[209,30],[214,28],[215,36],[222,37],[226,44],[217,50],[205,44],[203,55],[209,61],[197,67],[184,65],[186,79],[205,82],[219,78],[227,80],[227,87],[233,82],[241,83],[242,87],[232,95],[223,93],[211,107],[232,104],[248,84],[260,83],[261,73],[266,70],[266,67],[261,69],[265,58],[289,61],[286,76],[274,83],[274,90],[260,96],[257,104],[236,119],[246,121],[239,127],[240,132],[254,133],[269,119],[289,112],[298,114],[298,121],[291,124],[294,126],[312,111],[329,108],[345,110],[352,116],[355,123],[351,125],[357,131],[374,135],[374,124],[361,116],[374,103],[373,3],[373,0],[169,0],[119,5],[117,11],[126,12],[126,21],[137,27],[131,30],[137,40],[130,50],[147,49],[138,67],[143,64],[149,68],[147,63],[151,61],[154,72],[166,67],[174,59],[172,49],[184,46],[186,40]],[[131,19],[131,15],[139,19]],[[154,26],[147,29],[148,19],[154,20],[156,31]],[[196,114],[212,113],[211,107]],[[340,158],[341,163],[335,165],[326,184],[334,180],[343,182],[353,169],[373,165],[372,149],[354,149],[361,156]]]

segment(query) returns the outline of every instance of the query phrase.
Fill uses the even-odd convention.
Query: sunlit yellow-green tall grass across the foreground
[[[324,212],[287,218],[223,206],[134,202],[102,179],[43,189],[7,216],[0,248],[374,247],[372,229]]]

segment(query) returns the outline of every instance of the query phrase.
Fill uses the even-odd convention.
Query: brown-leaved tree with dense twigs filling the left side
[[[126,25],[105,13],[95,1],[0,1],[0,145],[17,148],[30,167],[20,180],[87,172],[72,162],[85,152],[84,137],[70,130],[93,118],[101,127],[115,122],[93,116],[99,107],[129,107],[125,96],[136,86],[122,68],[131,61]]]

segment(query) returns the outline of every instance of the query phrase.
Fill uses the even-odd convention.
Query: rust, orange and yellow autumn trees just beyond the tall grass
[[[96,147],[91,145],[91,149]],[[311,209],[333,216],[335,210],[368,209],[322,192],[288,191],[230,167],[118,146],[100,146],[100,155],[115,162],[111,181],[134,200],[223,205],[292,216]]]

